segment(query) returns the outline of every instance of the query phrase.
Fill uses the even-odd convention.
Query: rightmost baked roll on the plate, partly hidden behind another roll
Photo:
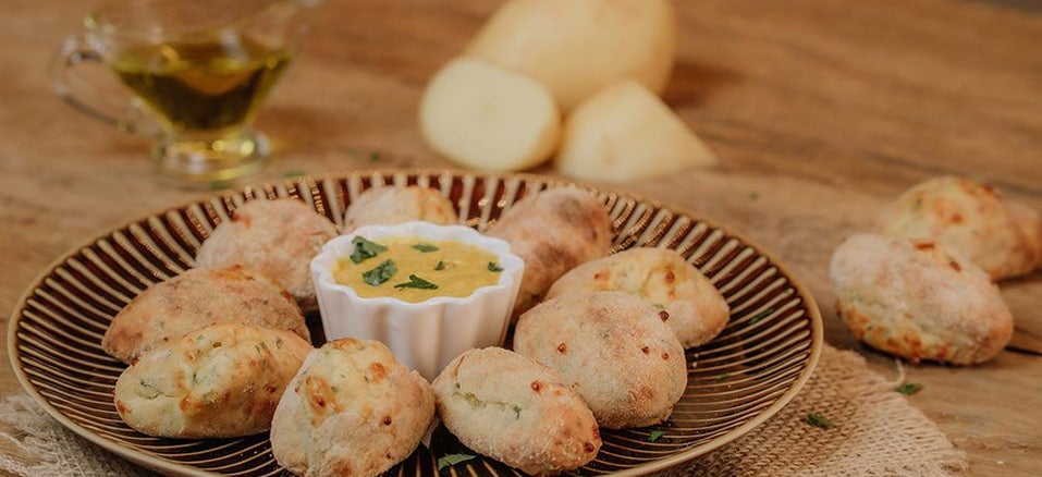
[[[664,308],[684,347],[708,343],[730,317],[724,296],[676,250],[630,248],[579,265],[557,279],[547,299],[578,292],[625,292]]]

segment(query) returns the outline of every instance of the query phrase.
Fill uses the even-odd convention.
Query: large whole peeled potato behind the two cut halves
[[[467,53],[538,80],[569,111],[624,77],[661,93],[676,36],[671,0],[510,0]]]

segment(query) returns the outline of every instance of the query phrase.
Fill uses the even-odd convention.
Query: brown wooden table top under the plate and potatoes
[[[259,118],[259,179],[451,166],[417,132],[426,81],[499,2],[329,0]],[[828,261],[908,186],[967,174],[1042,209],[1040,2],[682,0],[665,99],[719,167],[620,188],[711,218],[787,264],[822,306],[828,341],[859,348],[832,309]],[[61,254],[200,195],[162,185],[148,142],[51,91],[47,64],[89,4],[8,0],[0,16],[0,309]],[[14,12],[14,13],[12,13]],[[380,152],[372,161],[370,154]],[[540,169],[538,172],[552,171]],[[1002,283],[1019,331],[1042,337],[1042,272]],[[7,313],[3,313],[7,331]],[[7,354],[0,393],[19,389]],[[906,366],[912,405],[965,450],[971,475],[1042,475],[1042,357]]]

